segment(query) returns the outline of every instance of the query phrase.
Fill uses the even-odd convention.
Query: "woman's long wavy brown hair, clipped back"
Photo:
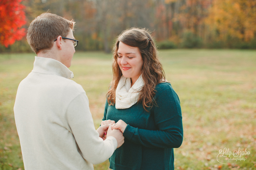
[[[165,82],[165,73],[158,59],[158,51],[151,37],[151,32],[145,28],[127,29],[116,39],[115,46],[113,47],[113,80],[110,83],[111,87],[106,95],[108,103],[110,105],[115,104],[116,87],[122,76],[122,71],[117,63],[119,42],[140,49],[141,57],[144,62],[141,73],[145,85],[140,91],[138,102],[142,102],[143,108],[148,111],[147,108],[151,108],[153,104],[155,104],[153,98],[155,96],[156,85]]]

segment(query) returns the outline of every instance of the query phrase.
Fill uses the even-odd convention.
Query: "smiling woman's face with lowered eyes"
[[[117,63],[123,76],[131,78],[133,85],[141,75],[141,68],[143,66],[139,48],[128,46],[120,41],[117,54]]]

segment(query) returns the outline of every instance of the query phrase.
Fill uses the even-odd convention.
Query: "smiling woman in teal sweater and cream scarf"
[[[124,144],[110,157],[114,170],[174,169],[183,140],[180,101],[165,81],[149,31],[122,32],[113,48],[113,81],[101,125],[115,123]]]

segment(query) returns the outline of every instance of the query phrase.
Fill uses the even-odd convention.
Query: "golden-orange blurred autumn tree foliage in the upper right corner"
[[[256,1],[213,0],[207,23],[220,41],[236,37],[249,42],[256,37]]]

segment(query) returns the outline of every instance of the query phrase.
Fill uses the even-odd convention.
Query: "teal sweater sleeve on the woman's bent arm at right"
[[[162,92],[156,99],[153,111],[157,130],[139,129],[127,125],[124,137],[134,143],[150,148],[178,148],[183,141],[180,102],[172,89]]]

